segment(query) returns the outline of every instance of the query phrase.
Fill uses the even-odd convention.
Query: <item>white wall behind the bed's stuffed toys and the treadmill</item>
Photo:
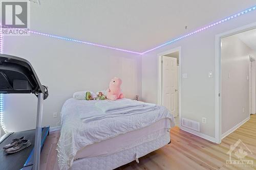
[[[33,34],[4,37],[4,53],[30,61],[41,83],[49,86],[44,126],[60,125],[61,107],[75,91],[106,89],[115,76],[122,79],[126,98],[141,96],[141,56]],[[37,98],[33,94],[8,94],[4,100],[8,131],[35,127]]]

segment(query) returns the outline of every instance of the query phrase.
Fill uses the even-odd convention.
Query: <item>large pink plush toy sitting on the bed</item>
[[[117,99],[122,99],[123,93],[121,92],[121,84],[122,84],[121,79],[119,79],[117,77],[112,79],[110,82],[110,87],[107,90],[108,92],[106,94],[106,98],[110,99],[112,101],[117,100]]]

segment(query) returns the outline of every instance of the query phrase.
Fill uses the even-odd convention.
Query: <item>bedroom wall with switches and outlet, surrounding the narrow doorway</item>
[[[209,70],[215,71],[215,35],[255,22],[255,14],[253,11],[143,55],[143,100],[157,103],[157,54],[181,46],[181,74],[187,73],[188,79],[181,81],[180,112],[182,117],[200,122],[201,133],[215,137],[215,78],[208,77]],[[206,124],[201,123],[202,117],[207,118]]]

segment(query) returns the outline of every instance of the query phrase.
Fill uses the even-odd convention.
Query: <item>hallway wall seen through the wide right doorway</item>
[[[236,35],[221,40],[222,134],[249,116],[249,54]],[[243,111],[244,108],[244,111]]]

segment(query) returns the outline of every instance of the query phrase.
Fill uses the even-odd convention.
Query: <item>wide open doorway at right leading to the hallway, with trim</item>
[[[220,143],[255,113],[256,26],[217,35],[216,47],[216,140]]]

